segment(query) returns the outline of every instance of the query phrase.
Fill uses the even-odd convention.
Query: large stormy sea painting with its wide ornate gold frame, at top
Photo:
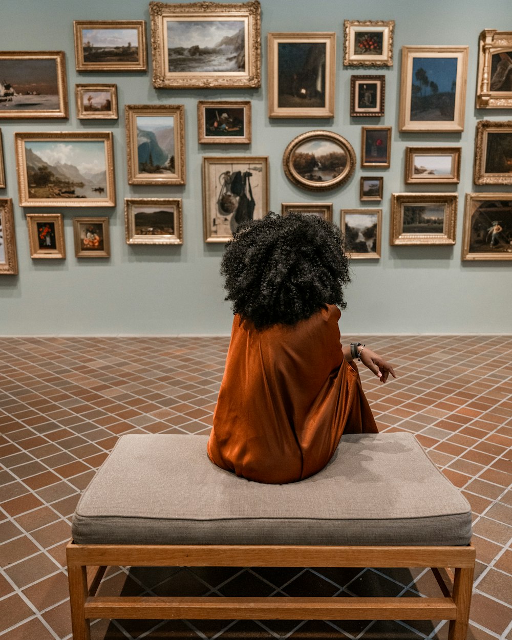
[[[261,8],[247,3],[150,2],[153,86],[261,84]]]

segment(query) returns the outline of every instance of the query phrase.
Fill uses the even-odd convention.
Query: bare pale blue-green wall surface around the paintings
[[[223,301],[218,274],[222,245],[205,244],[202,230],[200,168],[203,155],[268,155],[270,202],[333,203],[334,219],[341,208],[362,207],[361,175],[374,175],[358,165],[348,184],[325,194],[303,191],[287,180],[282,169],[285,147],[298,134],[329,129],[344,136],[360,152],[361,125],[391,125],[391,166],[384,176],[383,243],[380,260],[353,261],[347,292],[348,308],[342,333],[490,333],[512,331],[512,262],[461,262],[464,195],[499,191],[472,184],[475,125],[479,119],[512,120],[512,111],[476,110],[477,42],[484,28],[512,30],[510,0],[262,0],[262,86],[255,90],[156,90],[146,73],[77,74],[74,64],[73,20],[145,19],[149,38],[148,3],[143,0],[1,0],[2,50],[63,50],[67,58],[69,120],[0,120],[3,132],[7,188],[0,197],[14,200],[19,257],[18,276],[0,276],[0,335],[13,334],[225,334],[232,315]],[[356,68],[342,66],[343,20],[396,20],[394,67],[365,69],[386,77],[383,118],[350,118],[349,86]],[[269,120],[267,117],[266,33],[269,31],[335,31],[337,33],[336,104],[332,120]],[[402,45],[469,45],[465,130],[462,134],[399,134],[398,103]],[[149,56],[149,63],[151,58]],[[120,119],[77,120],[74,84],[116,83]],[[198,145],[196,103],[200,99],[249,99],[253,107],[253,140],[248,147]],[[187,184],[180,187],[130,187],[127,184],[124,130],[125,104],[184,104],[186,114]],[[113,131],[117,206],[115,209],[26,209],[17,204],[13,132]],[[390,195],[420,191],[405,186],[407,145],[460,145],[458,185],[433,186],[431,191],[459,195],[455,246],[391,247],[388,244]],[[505,187],[510,191],[510,187]],[[123,201],[127,196],[182,198],[184,244],[128,246],[124,239]],[[369,203],[372,205],[372,203]],[[31,260],[24,214],[63,211],[65,260]],[[106,215],[110,220],[111,258],[74,257],[72,218]],[[94,348],[92,343],[92,349]]]

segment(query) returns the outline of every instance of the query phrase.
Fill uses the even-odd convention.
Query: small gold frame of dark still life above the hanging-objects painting
[[[222,132],[222,125],[216,132],[208,132],[206,109],[215,109],[218,122],[222,122],[224,113],[230,118],[230,109],[241,109],[243,113],[243,132],[237,136],[229,128]],[[228,122],[228,120],[227,120]],[[251,141],[251,102],[250,100],[199,100],[197,103],[197,141],[200,144],[246,145]]]

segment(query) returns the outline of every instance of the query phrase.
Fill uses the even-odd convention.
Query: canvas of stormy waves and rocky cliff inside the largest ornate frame
[[[244,20],[166,20],[168,73],[246,71]]]

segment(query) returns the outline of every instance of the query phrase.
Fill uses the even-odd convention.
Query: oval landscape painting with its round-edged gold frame
[[[356,154],[348,140],[333,131],[308,131],[285,148],[284,172],[289,180],[311,191],[327,191],[354,172]]]

